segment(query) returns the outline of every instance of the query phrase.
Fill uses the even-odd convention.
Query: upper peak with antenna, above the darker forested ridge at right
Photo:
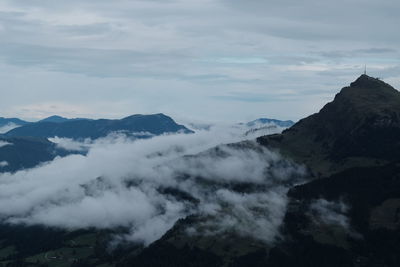
[[[400,157],[400,93],[362,75],[320,112],[260,144],[304,163],[314,175],[382,165]]]

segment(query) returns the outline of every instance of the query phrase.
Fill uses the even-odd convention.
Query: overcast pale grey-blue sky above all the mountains
[[[299,119],[400,88],[398,0],[1,0],[0,116]]]

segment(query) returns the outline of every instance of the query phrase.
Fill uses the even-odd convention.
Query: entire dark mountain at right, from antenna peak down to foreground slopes
[[[287,194],[279,241],[191,236],[204,220],[191,216],[122,266],[400,266],[399,113],[400,93],[362,75],[319,113],[257,139],[309,169]]]

